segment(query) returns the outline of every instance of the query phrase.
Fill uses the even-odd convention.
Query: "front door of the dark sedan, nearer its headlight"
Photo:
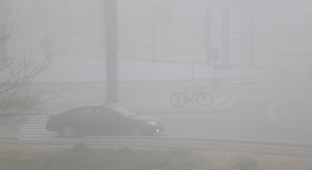
[[[115,135],[124,127],[124,118],[108,109],[95,109],[97,129],[102,135]]]

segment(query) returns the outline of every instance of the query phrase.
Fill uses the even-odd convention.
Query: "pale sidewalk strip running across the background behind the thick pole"
[[[55,56],[49,70],[49,72],[36,77],[34,82],[106,82],[105,58]],[[216,77],[251,76],[266,72],[263,69],[236,67],[234,69],[218,69],[216,70]],[[212,77],[214,77],[212,66],[195,63],[195,80],[211,79]],[[119,82],[184,81],[192,79],[192,63],[118,59]]]

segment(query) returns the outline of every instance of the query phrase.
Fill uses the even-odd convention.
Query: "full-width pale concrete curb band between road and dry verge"
[[[74,139],[40,138],[28,140],[0,140],[0,144],[24,145],[74,145],[77,142],[83,142],[86,145],[100,146],[216,150],[312,157],[312,143],[295,143],[282,141],[162,136],[87,136]]]

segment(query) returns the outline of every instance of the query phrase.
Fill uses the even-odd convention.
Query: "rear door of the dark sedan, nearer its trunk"
[[[80,108],[76,112],[76,127],[78,132],[83,134],[95,134],[96,114],[93,108]]]

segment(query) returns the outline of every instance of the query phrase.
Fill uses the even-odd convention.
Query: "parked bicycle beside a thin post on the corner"
[[[208,106],[210,105],[213,101],[214,98],[212,95],[209,93],[205,93],[201,91],[201,85],[198,86],[198,89],[194,91],[187,92],[186,91],[187,87],[184,87],[183,89],[185,90],[185,94],[183,93],[175,93],[170,97],[170,102],[174,106],[182,106],[186,102],[190,103],[192,102],[192,99],[195,97],[195,95],[199,92],[199,94],[196,96],[196,102],[202,106]]]

